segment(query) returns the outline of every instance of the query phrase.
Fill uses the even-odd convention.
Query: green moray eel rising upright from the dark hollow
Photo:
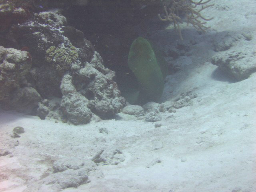
[[[164,65],[158,64],[162,58],[157,58],[148,40],[138,37],[132,42],[128,55],[128,66],[136,76],[140,85],[138,104],[158,101],[164,90]],[[166,70],[167,71],[167,70]]]

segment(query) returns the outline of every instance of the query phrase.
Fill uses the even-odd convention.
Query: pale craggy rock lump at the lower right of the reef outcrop
[[[124,98],[113,81],[114,72],[104,68],[100,55],[95,52],[84,67],[72,65],[72,73],[62,78],[61,107],[73,124],[90,122],[92,114],[111,118],[125,105]]]

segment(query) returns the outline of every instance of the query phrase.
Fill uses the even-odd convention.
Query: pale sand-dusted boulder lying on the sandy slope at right
[[[212,64],[237,81],[248,78],[256,72],[254,44],[248,43],[252,38],[250,32],[225,34],[221,40],[213,43],[217,53],[212,57]]]

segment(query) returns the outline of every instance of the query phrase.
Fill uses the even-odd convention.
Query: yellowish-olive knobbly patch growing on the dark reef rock
[[[78,58],[78,52],[76,48],[70,44],[65,46],[64,44],[56,46],[50,46],[46,50],[45,60],[51,63],[56,70],[63,74],[70,69],[70,64],[76,61]]]

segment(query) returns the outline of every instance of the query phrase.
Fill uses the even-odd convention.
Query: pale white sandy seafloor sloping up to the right
[[[214,16],[207,22],[211,30],[198,34],[189,26],[193,36],[184,30],[184,40],[198,43],[190,56],[175,61],[181,69],[166,78],[163,101],[193,92],[191,106],[161,112],[160,122],[118,114],[120,120],[78,126],[1,111],[1,148],[10,154],[0,157],[0,192],[256,192],[256,73],[232,82],[210,62],[216,54],[213,40],[227,31],[253,34],[234,50],[256,45],[256,1],[212,2],[215,6],[204,10]],[[25,133],[11,138],[16,126]],[[55,160],[90,160],[101,150],[115,149],[124,161],[99,164],[88,174],[90,182],[44,190],[40,180],[53,174]]]

